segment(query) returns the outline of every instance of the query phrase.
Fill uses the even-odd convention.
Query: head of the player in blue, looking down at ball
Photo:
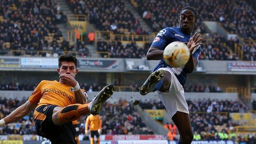
[[[179,27],[185,33],[190,34],[193,30],[195,20],[194,13],[191,10],[185,9],[181,12],[181,16],[178,17]]]

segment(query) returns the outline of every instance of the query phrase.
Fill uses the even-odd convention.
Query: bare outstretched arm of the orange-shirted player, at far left
[[[36,104],[30,103],[30,101],[27,101],[23,105],[19,106],[16,110],[11,112],[7,117],[4,118],[5,124],[12,123],[14,121],[18,121],[19,119],[25,117],[27,114],[29,114],[35,107],[37,107]]]

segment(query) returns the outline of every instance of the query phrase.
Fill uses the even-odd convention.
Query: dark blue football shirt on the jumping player
[[[167,45],[174,41],[181,41],[181,42],[188,42],[190,37],[192,37],[190,34],[184,34],[181,31],[180,27],[166,27],[158,34],[156,35],[153,43],[151,46],[154,46],[158,48],[159,50],[164,50]],[[196,48],[195,48],[196,49]],[[201,53],[201,47],[197,47],[197,50],[194,50],[193,57],[195,57],[198,61],[199,54]],[[155,69],[153,71],[156,71],[159,68],[162,67],[170,67],[171,71],[174,72],[175,76],[177,77],[178,81],[181,83],[181,85],[184,87],[186,79],[187,79],[187,72],[184,69],[184,66],[180,68],[173,68],[165,63],[165,61],[162,59],[157,66],[155,66]]]

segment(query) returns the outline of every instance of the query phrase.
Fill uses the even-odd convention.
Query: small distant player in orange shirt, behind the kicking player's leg
[[[88,127],[90,126],[91,144],[94,144],[94,135],[97,137],[97,144],[100,144],[101,119],[99,115],[89,115],[85,124],[85,135],[88,135]]]

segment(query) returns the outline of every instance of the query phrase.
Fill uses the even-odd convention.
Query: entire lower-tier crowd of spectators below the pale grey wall
[[[118,103],[106,102],[101,111],[102,134],[104,135],[131,135],[131,134],[153,134],[150,128],[147,128],[143,119],[140,118],[132,101],[119,100]],[[5,117],[15,110],[18,106],[25,103],[27,98],[22,100],[7,99],[0,97],[0,117]],[[247,107],[238,101],[219,101],[209,99],[199,99],[198,101],[187,100],[192,128],[194,131],[194,139],[197,140],[213,140],[213,139],[234,139],[234,126],[241,123],[232,121],[229,112],[247,112]],[[162,102],[159,100],[140,101],[139,105],[142,109],[164,109]],[[219,113],[216,113],[219,112]],[[222,113],[221,113],[222,112]],[[23,117],[16,123],[11,123],[0,128],[0,135],[20,134],[34,135],[33,112]],[[86,116],[79,119],[79,134],[85,134]],[[168,123],[167,123],[168,125]],[[173,125],[172,125],[173,126]],[[166,127],[166,126],[165,126]],[[168,128],[168,127],[166,127]],[[175,127],[173,127],[175,128]],[[177,132],[176,128],[173,132]],[[240,141],[248,141],[253,139],[251,135],[248,137],[238,137]]]

